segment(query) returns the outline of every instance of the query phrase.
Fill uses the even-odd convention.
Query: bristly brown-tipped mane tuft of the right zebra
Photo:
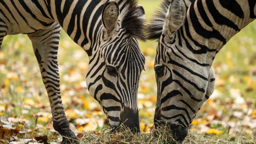
[[[149,21],[149,24],[147,26],[147,39],[158,40],[161,37],[165,17],[168,12],[170,4],[171,0],[164,0],[160,5],[160,9],[155,11],[154,17]]]

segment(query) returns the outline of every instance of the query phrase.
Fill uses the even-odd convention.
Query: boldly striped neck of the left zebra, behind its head
[[[106,2],[107,0],[47,0],[53,19],[89,56],[103,27],[101,13]]]

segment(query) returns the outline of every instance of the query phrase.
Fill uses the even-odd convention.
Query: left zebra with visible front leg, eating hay
[[[6,35],[27,34],[48,93],[53,127],[77,139],[62,105],[57,51],[60,30],[89,56],[86,84],[109,123],[139,131],[137,93],[145,57],[137,39],[145,12],[137,0],[1,0],[0,46]],[[63,137],[62,142],[68,142]]]

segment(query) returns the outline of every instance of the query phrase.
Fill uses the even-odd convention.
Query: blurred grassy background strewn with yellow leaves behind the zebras
[[[161,0],[139,0],[148,20]],[[153,126],[157,85],[154,72],[155,41],[139,42],[145,55],[139,93],[141,130]],[[62,31],[58,51],[61,94],[66,115],[75,133],[101,131],[108,120],[85,83],[88,55]],[[213,138],[253,141],[256,135],[256,21],[234,36],[218,53],[213,69],[216,89],[190,126],[197,134]],[[8,35],[0,50],[0,119],[19,131],[36,135],[53,130],[48,96],[27,35]],[[24,135],[20,135],[23,136]],[[1,138],[1,132],[0,132]]]

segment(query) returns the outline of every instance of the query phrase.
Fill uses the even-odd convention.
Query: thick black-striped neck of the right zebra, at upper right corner
[[[196,39],[197,42],[190,42],[196,46],[198,43],[202,53],[217,53],[256,18],[255,3],[255,0],[196,0],[188,8],[183,31]]]

